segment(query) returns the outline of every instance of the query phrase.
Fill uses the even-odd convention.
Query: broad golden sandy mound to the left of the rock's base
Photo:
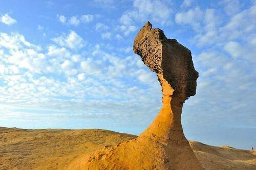
[[[0,169],[67,169],[81,154],[136,136],[107,130],[0,128]]]

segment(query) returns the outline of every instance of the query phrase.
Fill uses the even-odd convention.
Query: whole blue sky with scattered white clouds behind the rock
[[[149,20],[191,50],[186,137],[256,147],[255,1],[1,1],[0,126],[139,134],[161,88],[133,51]]]

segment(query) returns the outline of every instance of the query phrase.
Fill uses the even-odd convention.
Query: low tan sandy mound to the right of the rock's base
[[[196,141],[189,141],[189,144],[205,169],[256,169],[256,152],[228,146],[212,147]]]

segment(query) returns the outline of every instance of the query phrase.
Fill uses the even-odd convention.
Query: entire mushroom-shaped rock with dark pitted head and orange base
[[[196,94],[198,78],[190,51],[150,22],[141,28],[133,49],[157,74],[162,109],[137,138],[77,159],[70,169],[203,169],[181,125],[182,106]]]

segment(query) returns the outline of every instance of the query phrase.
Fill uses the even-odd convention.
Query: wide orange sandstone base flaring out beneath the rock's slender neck
[[[147,136],[115,148],[106,147],[71,166],[70,169],[203,169],[185,138],[178,143],[160,143]]]

